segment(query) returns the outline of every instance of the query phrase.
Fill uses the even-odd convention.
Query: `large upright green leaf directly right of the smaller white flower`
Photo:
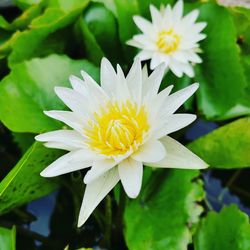
[[[228,10],[217,4],[201,4],[200,20],[207,22],[207,38],[201,43],[203,63],[196,67],[198,105],[206,117],[221,119],[242,98],[246,86],[237,33]]]

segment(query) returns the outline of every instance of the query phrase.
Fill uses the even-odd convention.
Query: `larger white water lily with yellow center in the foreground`
[[[101,63],[101,87],[85,72],[83,80],[71,76],[73,89],[55,92],[71,111],[45,111],[73,130],[57,130],[36,136],[45,146],[68,150],[41,175],[53,177],[91,167],[78,225],[121,180],[131,198],[138,196],[143,164],[159,168],[202,169],[207,164],[174,139],[166,136],[196,118],[173,114],[198,88],[195,83],[169,95],[173,86],[158,93],[164,75],[160,65],[150,76],[135,60],[127,77],[107,59]],[[174,191],[173,191],[174,192]]]

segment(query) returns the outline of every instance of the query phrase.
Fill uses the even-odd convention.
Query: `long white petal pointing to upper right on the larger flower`
[[[199,84],[194,83],[170,95],[164,103],[166,107],[166,109],[163,110],[164,114],[173,114],[191,95],[194,94],[198,87]]]

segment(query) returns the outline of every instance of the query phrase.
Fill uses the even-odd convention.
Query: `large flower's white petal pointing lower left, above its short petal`
[[[87,150],[69,152],[51,163],[41,172],[43,177],[54,177],[79,169],[90,167],[92,155]]]

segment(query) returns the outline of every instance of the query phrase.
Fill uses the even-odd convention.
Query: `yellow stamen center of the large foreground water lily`
[[[134,152],[143,143],[149,130],[145,107],[127,101],[122,105],[109,102],[84,130],[87,145],[100,154],[118,156]]]

